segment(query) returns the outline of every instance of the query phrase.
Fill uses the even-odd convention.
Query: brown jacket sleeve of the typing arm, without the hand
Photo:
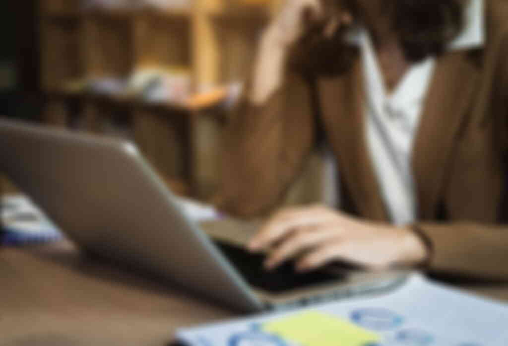
[[[504,112],[494,114],[496,127],[504,129],[499,146],[508,152],[508,28],[500,40],[495,75],[498,84],[493,92]],[[505,179],[508,179],[506,172]],[[502,207],[502,206],[501,206]],[[508,210],[501,212],[508,213]],[[504,217],[506,219],[506,217]],[[508,225],[475,223],[421,223],[415,230],[431,244],[429,270],[453,272],[474,277],[508,280]]]

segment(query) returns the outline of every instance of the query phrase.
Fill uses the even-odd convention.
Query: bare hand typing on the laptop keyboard
[[[410,229],[361,221],[320,205],[278,212],[251,239],[249,249],[271,249],[267,269],[304,254],[296,264],[299,271],[334,260],[382,270],[416,265],[427,257],[425,244]]]

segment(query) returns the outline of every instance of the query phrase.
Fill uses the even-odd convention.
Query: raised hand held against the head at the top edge
[[[323,0],[287,0],[275,18],[272,28],[278,39],[288,47],[311,30],[320,28],[322,34],[331,37],[341,25],[351,24],[353,17],[334,2],[325,8]]]

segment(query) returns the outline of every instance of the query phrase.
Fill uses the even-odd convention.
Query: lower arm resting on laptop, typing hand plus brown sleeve
[[[506,36],[508,38],[508,36]],[[499,46],[495,67],[499,104],[496,129],[502,129],[500,151],[508,149],[508,39]],[[500,96],[500,97],[498,97]],[[481,182],[479,182],[481,183]],[[502,206],[499,206],[500,208]],[[506,218],[506,217],[504,217]],[[486,223],[416,223],[395,227],[370,223],[323,206],[283,210],[274,215],[250,244],[253,251],[272,249],[266,266],[305,255],[297,261],[302,270],[334,260],[345,260],[367,269],[392,266],[421,267],[431,272],[508,281],[508,225]]]

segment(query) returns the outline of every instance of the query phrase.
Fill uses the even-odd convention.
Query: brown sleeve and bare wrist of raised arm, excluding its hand
[[[226,129],[219,208],[255,216],[282,198],[313,144],[310,85],[285,69],[270,29],[255,73]]]

